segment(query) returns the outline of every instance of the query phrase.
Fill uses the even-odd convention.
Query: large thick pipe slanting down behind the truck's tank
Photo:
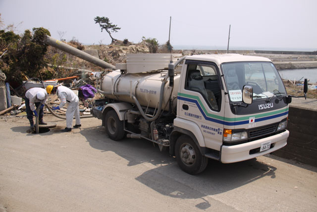
[[[90,54],[80,51],[79,49],[76,49],[72,46],[69,46],[59,40],[56,40],[54,38],[52,38],[51,36],[46,36],[46,38],[44,39],[44,43],[47,45],[51,45],[59,50],[62,50],[64,52],[67,52],[71,55],[74,55],[75,57],[81,58],[85,61],[88,61],[92,64],[95,64],[96,66],[102,67],[104,69],[115,69],[115,66],[106,63],[105,61],[102,61],[98,58],[95,58],[94,56],[91,56]]]

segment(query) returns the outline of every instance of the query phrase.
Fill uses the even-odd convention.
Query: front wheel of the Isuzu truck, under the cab
[[[204,171],[208,164],[208,158],[202,155],[196,143],[185,135],[177,139],[175,155],[180,168],[188,174],[198,174]]]

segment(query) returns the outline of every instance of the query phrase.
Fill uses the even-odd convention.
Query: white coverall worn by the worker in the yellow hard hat
[[[78,96],[76,96],[76,94],[71,89],[65,86],[57,87],[57,95],[60,99],[59,108],[62,108],[66,103],[68,103],[66,111],[66,127],[72,127],[74,114],[76,125],[80,125]]]

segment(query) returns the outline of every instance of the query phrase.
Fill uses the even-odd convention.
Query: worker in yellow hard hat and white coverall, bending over
[[[63,132],[70,132],[71,126],[73,123],[73,118],[75,115],[76,123],[74,128],[81,127],[80,124],[80,115],[79,115],[79,106],[78,106],[78,96],[68,87],[65,86],[58,86],[54,87],[53,85],[48,85],[46,87],[46,91],[51,94],[57,93],[60,104],[57,107],[53,107],[53,110],[59,110],[62,108],[66,103],[68,103],[67,111],[66,111],[66,128]]]

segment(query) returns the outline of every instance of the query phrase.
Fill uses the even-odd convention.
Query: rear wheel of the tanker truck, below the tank
[[[110,139],[114,141],[123,139],[125,135],[123,121],[120,121],[117,113],[114,110],[110,110],[106,113],[105,123],[106,133]]]

